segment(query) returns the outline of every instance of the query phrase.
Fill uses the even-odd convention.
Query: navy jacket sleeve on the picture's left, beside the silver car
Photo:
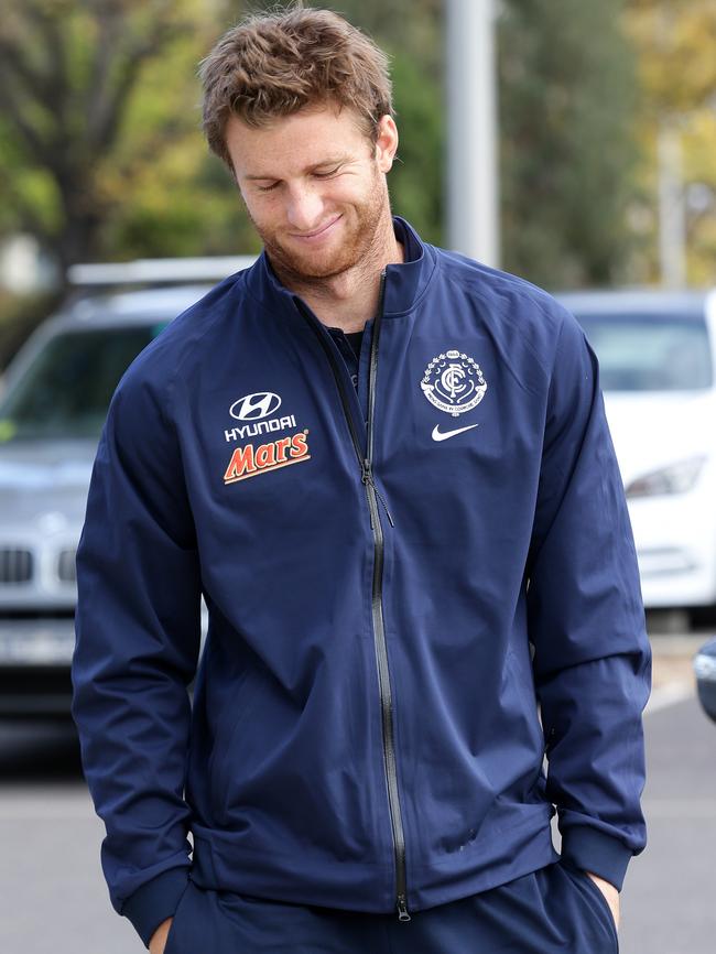
[[[200,642],[196,541],[175,432],[132,369],[112,399],[77,554],[73,716],[116,910],[149,944],[189,869],[183,799]]]

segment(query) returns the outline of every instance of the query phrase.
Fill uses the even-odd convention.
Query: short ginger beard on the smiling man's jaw
[[[262,226],[246,202],[245,206],[274,271],[284,279],[303,283],[335,278],[364,261],[368,263],[371,251],[378,249],[383,217],[390,218],[388,186],[375,162],[365,200],[336,208],[336,213],[341,214],[338,234],[328,240],[326,248],[301,249],[299,242],[286,235],[291,231],[289,227]]]

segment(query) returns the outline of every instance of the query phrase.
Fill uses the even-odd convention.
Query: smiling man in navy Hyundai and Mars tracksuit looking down
[[[202,77],[264,252],[97,455],[74,714],[112,902],[152,954],[616,951],[650,658],[594,355],[391,217],[345,20],[254,17]]]

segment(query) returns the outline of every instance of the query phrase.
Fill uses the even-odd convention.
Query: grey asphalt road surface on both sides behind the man
[[[650,842],[627,875],[620,950],[713,954],[716,725],[698,707],[683,652],[659,668],[658,683],[646,716]],[[70,726],[0,724],[2,954],[143,950],[109,907],[101,837]]]

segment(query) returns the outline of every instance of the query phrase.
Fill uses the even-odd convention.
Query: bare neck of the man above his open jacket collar
[[[282,284],[301,295],[324,325],[350,333],[362,330],[366,322],[375,317],[386,265],[402,261],[403,247],[395,238],[387,209],[370,248],[352,268],[325,279],[302,279],[282,274],[280,269],[276,273]]]

